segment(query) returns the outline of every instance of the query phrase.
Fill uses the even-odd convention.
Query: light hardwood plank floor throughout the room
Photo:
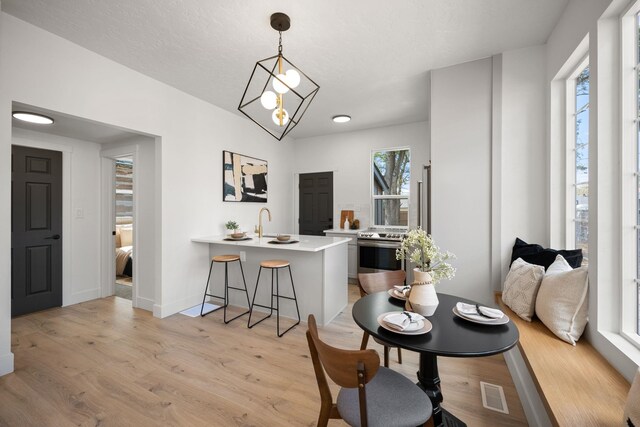
[[[275,319],[249,330],[246,316],[229,325],[221,316],[160,320],[110,297],[13,319],[16,370],[0,378],[0,425],[315,425],[306,325],[277,338]],[[351,304],[320,334],[358,348]],[[369,348],[382,354],[373,340]],[[393,350],[391,368],[415,379],[417,354],[403,359],[397,364]],[[469,426],[526,425],[502,356],[441,358],[439,366],[443,406]],[[505,388],[509,415],[482,407],[481,380]]]

